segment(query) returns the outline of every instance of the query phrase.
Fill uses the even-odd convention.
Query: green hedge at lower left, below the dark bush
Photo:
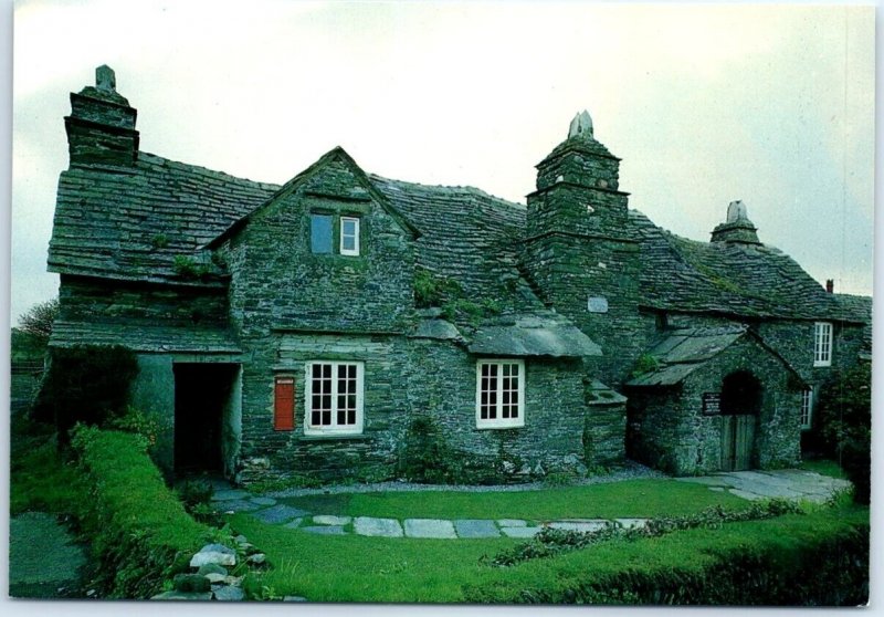
[[[187,569],[212,529],[166,487],[144,438],[81,425],[72,446],[88,489],[83,527],[97,560],[95,584],[105,597],[151,597]]]

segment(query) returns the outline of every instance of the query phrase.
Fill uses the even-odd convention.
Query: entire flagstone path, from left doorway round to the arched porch
[[[850,487],[846,480],[828,478],[811,471],[736,471],[696,478],[677,478],[681,482],[705,484],[713,491],[728,491],[747,499],[787,498],[824,502],[835,491]],[[421,537],[421,538],[485,538],[485,537],[534,537],[543,529],[592,532],[607,525],[627,529],[640,527],[648,519],[562,519],[529,523],[522,519],[379,519],[375,516],[339,516],[314,514],[298,508],[277,503],[274,498],[252,496],[235,489],[219,490],[212,500],[224,512],[248,512],[249,515],[269,523],[282,524],[319,535],[366,535],[372,537]]]

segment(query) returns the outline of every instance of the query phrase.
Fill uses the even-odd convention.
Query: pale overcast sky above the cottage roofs
[[[11,317],[45,272],[69,93],[116,71],[144,151],[282,184],[367,171],[524,202],[586,108],[630,207],[761,241],[871,294],[873,7],[24,0],[14,15]]]

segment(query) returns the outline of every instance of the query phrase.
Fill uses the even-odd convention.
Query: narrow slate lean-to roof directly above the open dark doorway
[[[148,322],[99,322],[56,320],[50,346],[77,344],[124,345],[135,352],[241,353],[234,335],[223,327],[173,326]]]

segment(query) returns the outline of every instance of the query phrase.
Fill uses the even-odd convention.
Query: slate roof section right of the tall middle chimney
[[[680,238],[635,210],[630,221],[641,241],[640,291],[648,307],[747,317],[850,317],[777,249]]]

